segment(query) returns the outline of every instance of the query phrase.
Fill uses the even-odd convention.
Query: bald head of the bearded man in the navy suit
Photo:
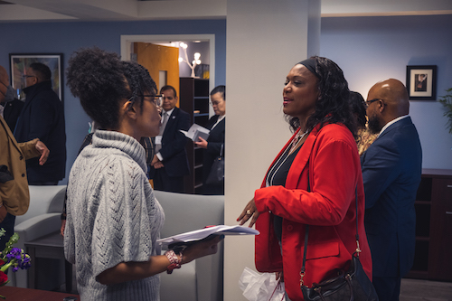
[[[367,101],[371,100],[373,101],[369,103],[367,116],[370,127],[372,118],[374,132],[391,120],[408,115],[410,112],[408,91],[400,80],[389,79],[377,82],[369,90]]]

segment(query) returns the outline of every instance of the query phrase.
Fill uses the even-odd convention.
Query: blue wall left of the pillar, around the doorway
[[[80,47],[98,46],[120,53],[122,34],[215,34],[215,83],[226,82],[225,20],[3,23],[0,29],[0,65],[6,70],[9,70],[9,53],[63,53],[63,67],[67,67],[71,53]],[[68,139],[66,174],[69,174],[81,141],[88,133],[89,118],[79,99],[74,99],[67,87],[64,87],[63,99]],[[66,176],[61,183],[67,183],[67,180]]]

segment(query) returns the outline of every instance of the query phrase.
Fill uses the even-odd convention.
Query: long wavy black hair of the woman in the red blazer
[[[315,112],[306,121],[306,130],[311,131],[317,125],[325,123],[342,123],[356,134],[356,118],[350,107],[350,90],[344,72],[334,61],[324,57],[312,56],[315,60],[315,73],[318,78],[318,99],[315,101]],[[287,121],[295,131],[300,126],[298,118],[287,117]]]

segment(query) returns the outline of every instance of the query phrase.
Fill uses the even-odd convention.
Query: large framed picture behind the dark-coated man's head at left
[[[33,62],[42,62],[50,68],[52,71],[52,89],[62,101],[62,53],[10,53],[11,86],[15,89],[17,98],[25,99],[26,71]]]

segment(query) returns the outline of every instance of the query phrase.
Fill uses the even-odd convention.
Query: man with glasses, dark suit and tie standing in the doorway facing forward
[[[174,87],[165,86],[160,89],[160,94],[163,98],[162,127],[159,136],[155,137],[155,155],[149,177],[154,181],[155,190],[184,193],[184,175],[190,174],[190,167],[185,150],[187,138],[180,130],[188,131],[190,115],[175,107],[178,98]]]

